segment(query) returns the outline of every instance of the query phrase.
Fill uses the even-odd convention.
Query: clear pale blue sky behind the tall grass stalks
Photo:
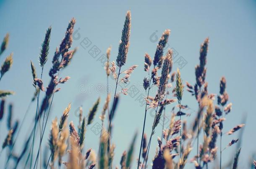
[[[51,60],[55,48],[59,46],[69,20],[76,18],[75,30],[76,39],[73,47],[78,47],[72,63],[65,68],[60,77],[71,76],[68,83],[60,85],[60,92],[55,94],[50,120],[55,116],[59,119],[64,108],[71,102],[72,108],[68,121],[78,124],[76,110],[83,106],[84,115],[88,114],[89,108],[100,96],[100,104],[97,117],[94,123],[86,131],[85,149],[93,148],[97,151],[99,135],[92,132],[91,127],[100,123],[99,115],[106,97],[102,86],[106,85],[106,76],[102,63],[97,59],[104,54],[111,45],[111,60],[116,59],[118,43],[121,37],[121,30],[125,20],[125,13],[131,10],[131,45],[128,52],[128,60],[125,68],[132,65],[139,65],[131,76],[131,84],[138,84],[143,81],[146,73],[144,69],[144,54],[147,52],[154,56],[157,41],[165,29],[171,30],[169,38],[170,48],[178,52],[177,58],[182,56],[187,64],[181,69],[181,77],[184,82],[195,83],[194,67],[199,63],[200,44],[206,37],[209,37],[209,53],[207,55],[207,76],[209,93],[219,92],[219,80],[221,76],[227,79],[227,92],[232,102],[232,112],[224,122],[223,131],[242,122],[247,115],[246,127],[242,141],[240,154],[240,166],[248,166],[249,157],[255,153],[255,72],[256,72],[256,1],[255,0],[216,0],[216,1],[67,1],[67,0],[44,0],[44,1],[13,1],[0,0],[0,39],[6,33],[10,33],[8,49],[1,55],[0,61],[13,52],[13,67],[2,78],[0,89],[13,90],[14,96],[9,96],[7,102],[14,103],[13,119],[22,119],[29,105],[34,88],[31,85],[30,60],[37,67],[39,74],[38,57],[40,47],[46,29],[51,25],[52,33],[50,40],[49,60],[44,68],[43,81],[45,85],[49,81],[48,71],[51,67]],[[154,34],[155,33],[155,34]],[[156,36],[155,36],[156,35]],[[84,49],[81,41],[87,38],[91,41],[89,48]],[[101,51],[96,58],[89,54],[93,46]],[[176,58],[176,59],[177,59]],[[173,70],[179,65],[174,63]],[[114,85],[114,81],[110,80]],[[91,92],[86,90],[91,87]],[[100,86],[100,87],[99,87]],[[140,91],[144,93],[144,91]],[[136,141],[135,158],[138,158],[138,151],[141,139],[141,132],[144,118],[144,106],[130,95],[120,97],[115,114],[112,140],[116,144],[114,166],[119,166],[121,154],[127,150],[133,134],[138,131]],[[42,95],[41,95],[42,96]],[[193,110],[197,109],[197,103],[193,96],[187,91],[184,92],[183,104],[187,104]],[[20,153],[28,130],[31,130],[32,121],[35,115],[35,103],[31,106],[29,116],[19,135],[19,144],[16,145],[17,153]],[[170,117],[170,109],[167,108],[167,116]],[[196,113],[187,117],[188,126],[194,119]],[[2,142],[7,134],[5,119],[0,124],[0,141]],[[148,116],[146,121],[146,133],[151,132],[153,117]],[[168,126],[168,124],[166,124]],[[50,130],[50,121],[47,125],[47,134],[44,136],[43,145],[47,146],[47,138]],[[150,159],[153,158],[157,146],[157,136],[161,135],[162,126],[157,127],[157,132],[152,139]],[[238,133],[232,136],[223,137],[223,146],[227,145]],[[201,140],[202,142],[202,137]],[[37,141],[38,142],[38,141]],[[219,140],[217,142],[219,146]],[[223,153],[223,161],[227,162],[233,158],[236,146],[232,146]],[[189,159],[192,158],[194,149]],[[0,163],[5,161],[5,154],[0,157]],[[151,160],[149,159],[149,162]],[[23,165],[21,165],[23,166]],[[193,166],[192,164],[188,164]],[[135,163],[133,167],[135,168]]]

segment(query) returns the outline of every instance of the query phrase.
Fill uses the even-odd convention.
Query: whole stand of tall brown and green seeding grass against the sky
[[[86,130],[90,127],[94,119],[97,118],[97,112],[99,111],[101,102],[100,97],[92,105],[84,116],[82,108],[79,109],[79,123],[76,124],[69,119],[71,111],[71,103],[64,109],[61,117],[55,117],[51,123],[51,129],[49,132],[49,139],[47,148],[50,154],[42,156],[42,143],[45,137],[45,129],[48,124],[49,114],[54,102],[54,95],[60,88],[57,88],[60,84],[68,83],[69,76],[59,78],[60,71],[63,68],[71,64],[73,55],[76,53],[76,48],[71,49],[73,43],[73,30],[76,20],[72,18],[68,23],[63,40],[60,43],[59,48],[56,48],[52,58],[52,67],[49,70],[50,82],[47,84],[43,80],[44,65],[50,59],[48,56],[50,48],[50,36],[51,27],[49,27],[45,33],[45,37],[42,43],[42,48],[39,54],[39,66],[41,67],[40,78],[37,77],[37,65],[31,64],[32,85],[35,88],[35,94],[25,113],[25,116],[21,123],[13,121],[14,112],[12,110],[12,104],[9,103],[9,113],[7,117],[8,134],[3,139],[2,149],[0,156],[3,156],[5,149],[7,160],[4,164],[4,168],[9,168],[14,165],[14,168],[68,168],[68,169],[112,169],[114,164],[114,158],[120,158],[121,169],[131,169],[137,167],[137,169],[151,168],[148,164],[149,154],[152,154],[150,147],[152,141],[158,142],[158,149],[154,158],[152,159],[153,169],[183,169],[187,166],[188,160],[193,162],[197,169],[207,168],[210,163],[219,163],[219,168],[222,168],[222,154],[233,144],[236,144],[239,139],[232,139],[229,143],[223,143],[222,137],[233,135],[235,132],[245,126],[245,124],[239,124],[231,128],[227,132],[222,132],[224,129],[224,121],[232,113],[232,103],[228,103],[230,98],[227,93],[227,80],[224,76],[219,82],[219,93],[217,99],[214,100],[215,94],[209,93],[208,83],[206,81],[206,68],[207,53],[209,47],[209,38],[206,38],[199,48],[199,64],[195,67],[195,83],[191,85],[186,82],[183,83],[182,73],[178,69],[176,72],[172,72],[173,64],[173,52],[171,49],[167,49],[165,54],[165,46],[170,36],[170,30],[165,30],[159,39],[157,48],[154,54],[154,58],[146,53],[144,55],[144,71],[148,77],[143,79],[143,86],[145,90],[145,111],[144,118],[141,119],[141,131],[136,131],[135,134],[130,136],[131,144],[128,146],[127,151],[123,151],[122,156],[115,156],[115,140],[112,138],[113,128],[113,116],[115,115],[116,108],[119,104],[120,94],[127,95],[128,89],[118,89],[118,84],[129,83],[129,78],[133,71],[137,68],[137,65],[133,65],[125,69],[128,59],[128,50],[130,46],[131,35],[131,11],[128,11],[125,15],[125,22],[121,34],[121,40],[118,47],[118,56],[116,61],[110,59],[110,51],[112,48],[108,48],[106,52],[106,84],[109,84],[109,76],[113,76],[115,80],[115,92],[111,97],[110,91],[106,93],[106,99],[103,103],[103,108],[99,118],[101,119],[101,131],[99,142],[95,143],[94,147],[85,150],[85,143],[91,136],[86,136]],[[9,34],[5,35],[3,43],[1,45],[0,56],[5,54],[5,49],[8,47]],[[13,54],[7,56],[0,69],[0,82],[3,77],[6,77],[7,72],[10,71],[13,64]],[[4,76],[5,75],[5,76]],[[28,78],[29,79],[29,78]],[[169,91],[168,86],[175,87],[172,91]],[[47,87],[44,87],[46,86]],[[152,87],[157,87],[157,92],[152,95]],[[214,85],[213,86],[218,86]],[[191,119],[188,113],[188,105],[184,104],[184,89],[195,98],[195,102],[198,103],[198,111],[196,112],[195,119],[192,119],[191,127],[187,124],[187,121]],[[5,116],[5,100],[9,95],[12,95],[13,91],[0,90],[0,121]],[[40,93],[44,96],[39,97]],[[149,94],[150,93],[150,94]],[[37,100],[36,100],[37,99]],[[35,101],[36,100],[36,101]],[[112,102],[111,102],[112,100]],[[110,104],[112,103],[112,104]],[[19,136],[24,131],[22,126],[26,115],[29,112],[31,104],[36,104],[35,117],[32,121],[32,127],[30,128],[29,137],[26,139],[21,152],[16,152],[14,149],[19,142]],[[177,108],[178,107],[178,108]],[[148,111],[152,109],[155,113],[154,121],[149,121],[146,115]],[[165,128],[164,124],[159,128],[161,119],[165,121],[165,114],[168,114],[171,110],[170,124]],[[33,110],[34,111],[34,110]],[[142,112],[141,112],[142,113]],[[107,118],[106,117],[107,114]],[[164,115],[162,115],[164,114]],[[60,120],[58,120],[60,118]],[[41,121],[42,120],[42,121]],[[106,122],[107,121],[107,122]],[[146,122],[152,123],[152,129],[149,134],[146,134],[145,126]],[[38,127],[39,126],[39,139]],[[129,126],[128,126],[129,127]],[[156,130],[162,130],[162,136],[155,137]],[[226,130],[226,129],[225,129]],[[201,134],[200,134],[201,133]],[[140,135],[141,134],[141,135]],[[140,145],[136,145],[136,139],[141,136]],[[149,136],[147,138],[147,136]],[[39,145],[35,146],[35,142],[39,140]],[[219,140],[219,147],[217,141]],[[201,144],[200,144],[201,142]],[[224,149],[222,145],[225,144]],[[19,143],[21,145],[21,143]],[[138,149],[138,147],[140,147]],[[120,149],[120,146],[117,147]],[[123,148],[123,147],[121,147]],[[98,149],[98,154],[94,149]],[[191,154],[192,149],[196,149],[196,154]],[[36,150],[36,151],[34,151]],[[139,154],[135,154],[135,152]],[[236,169],[239,164],[239,154],[241,148],[235,154],[234,159],[230,163],[230,167]],[[34,155],[36,154],[36,155]],[[218,155],[219,154],[219,155]],[[227,155],[227,154],[225,154]],[[217,158],[218,157],[218,158]],[[43,158],[43,163],[42,163]],[[136,159],[138,158],[138,161]],[[11,160],[12,159],[12,160]],[[21,162],[22,161],[22,162]],[[132,166],[134,162],[136,166]],[[254,167],[256,162],[252,161]]]

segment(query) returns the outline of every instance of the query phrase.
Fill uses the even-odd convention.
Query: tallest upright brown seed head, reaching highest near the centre
[[[125,23],[123,25],[122,37],[119,43],[118,56],[116,64],[121,67],[125,64],[130,46],[129,38],[131,33],[131,11],[128,10],[125,16]]]

